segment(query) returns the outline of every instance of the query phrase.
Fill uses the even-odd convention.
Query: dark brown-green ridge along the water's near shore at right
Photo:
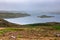
[[[60,22],[34,23],[34,24],[28,24],[28,25],[29,26],[60,26]]]

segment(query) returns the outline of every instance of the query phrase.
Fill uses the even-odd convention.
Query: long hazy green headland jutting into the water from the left
[[[30,14],[22,12],[0,11],[0,18],[18,18],[26,16],[30,16]]]

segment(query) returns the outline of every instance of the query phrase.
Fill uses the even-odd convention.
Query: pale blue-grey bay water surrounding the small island
[[[33,13],[33,12],[29,12],[29,14],[31,14],[31,16],[28,17],[22,17],[22,18],[14,18],[14,19],[5,19],[9,22],[12,23],[17,23],[17,24],[31,24],[31,23],[44,23],[44,22],[60,22],[60,15],[53,15],[50,13]],[[51,18],[38,18],[37,16],[41,16],[41,15],[48,15],[48,16],[54,16]]]

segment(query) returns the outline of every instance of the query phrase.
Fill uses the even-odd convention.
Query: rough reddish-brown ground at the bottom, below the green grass
[[[3,30],[3,29],[2,29]],[[0,40],[60,40],[60,31],[52,28],[20,28],[0,35]]]

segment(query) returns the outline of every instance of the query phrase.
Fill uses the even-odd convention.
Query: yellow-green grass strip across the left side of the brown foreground
[[[0,30],[0,35],[4,34],[6,32],[14,32],[14,31],[23,31],[23,30],[31,30],[33,28],[11,28],[11,27],[6,27],[5,29]]]

